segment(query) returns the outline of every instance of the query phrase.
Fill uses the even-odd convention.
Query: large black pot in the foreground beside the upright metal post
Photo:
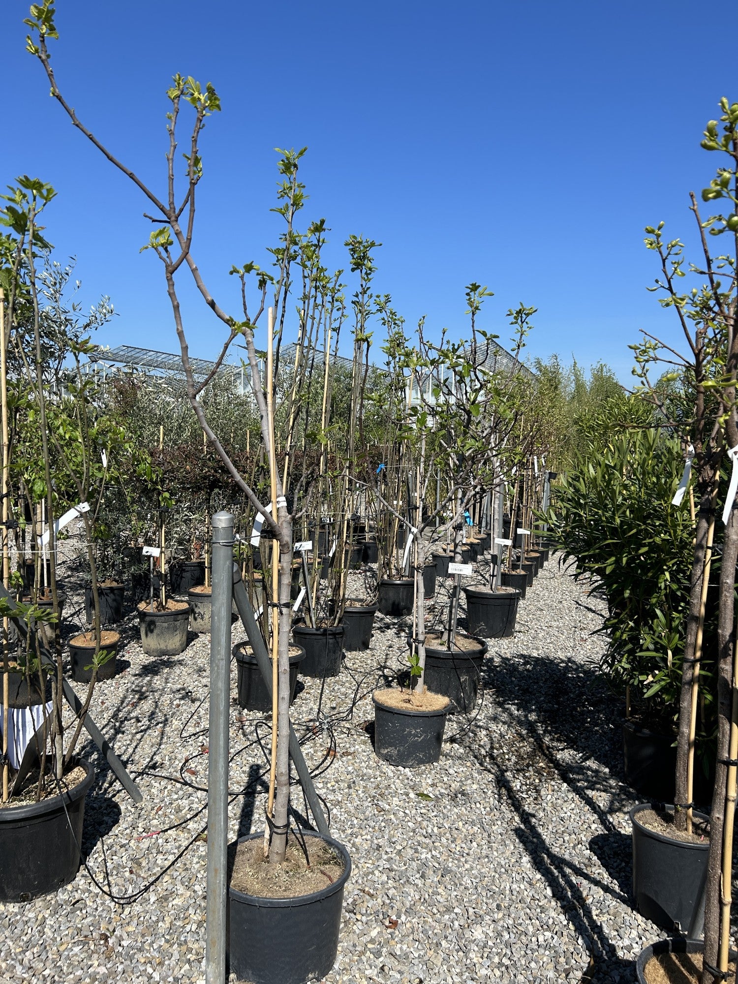
[[[241,840],[261,840],[252,833]],[[252,984],[305,984],[331,972],[338,954],[343,889],[351,859],[333,837],[305,830],[309,841],[320,838],[343,861],[343,872],[320,892],[292,898],[260,898],[228,889],[228,956],[238,980]]]

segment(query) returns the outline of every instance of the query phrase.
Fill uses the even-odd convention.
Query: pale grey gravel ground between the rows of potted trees
[[[348,653],[322,695],[320,681],[298,687],[295,727],[353,863],[326,981],[635,980],[662,934],[629,898],[635,800],[619,778],[619,708],[596,674],[601,608],[550,561],[515,637],[490,641],[481,709],[449,718],[435,766],[385,764],[367,729],[372,689],[404,663],[407,620],[378,615],[372,648]],[[92,715],[144,803],[86,746],[98,772],[83,846],[126,904],[84,868],[55,896],[0,904],[2,982],[204,980],[210,637],[154,660],[130,618],[123,635],[122,672],[98,685]],[[232,837],[263,827],[264,720],[231,705]]]

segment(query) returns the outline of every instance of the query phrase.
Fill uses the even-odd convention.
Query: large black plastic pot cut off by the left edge
[[[0,810],[0,901],[27,902],[74,881],[85,797],[94,781],[89,762],[80,759],[76,765],[87,775],[73,789],[40,803]]]

